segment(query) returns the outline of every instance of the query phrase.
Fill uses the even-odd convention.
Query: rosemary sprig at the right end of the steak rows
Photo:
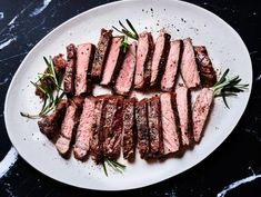
[[[222,97],[227,108],[229,108],[227,97],[238,96],[239,92],[244,91],[249,86],[240,83],[242,79],[239,76],[234,76],[231,79],[228,79],[227,76],[229,71],[230,70],[227,69],[221,78],[212,87],[214,97]]]

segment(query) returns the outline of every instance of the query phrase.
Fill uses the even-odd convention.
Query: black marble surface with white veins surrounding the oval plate
[[[13,166],[0,178],[1,197],[261,196],[261,6],[259,1],[190,0],[220,16],[245,42],[253,63],[253,89],[248,108],[229,138],[192,169],[165,181],[134,190],[104,193],[54,181],[29,166],[11,149],[3,104],[9,83],[30,49],[63,21],[110,0],[0,0],[0,171],[9,152]],[[13,155],[14,154],[14,155]],[[7,157],[6,157],[7,158]],[[4,175],[3,175],[4,174]],[[88,181],[88,180],[87,180]],[[231,184],[235,185],[231,185]]]

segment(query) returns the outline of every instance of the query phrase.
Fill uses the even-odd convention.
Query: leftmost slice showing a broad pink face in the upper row
[[[77,67],[76,67],[76,95],[90,92],[90,70],[92,66],[94,46],[92,43],[79,45],[77,50]]]

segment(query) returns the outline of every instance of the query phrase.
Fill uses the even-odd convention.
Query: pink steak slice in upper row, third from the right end
[[[172,91],[174,89],[177,72],[179,69],[181,53],[182,53],[181,48],[182,48],[181,40],[174,40],[170,42],[170,52],[168,56],[164,73],[161,79],[162,91]]]

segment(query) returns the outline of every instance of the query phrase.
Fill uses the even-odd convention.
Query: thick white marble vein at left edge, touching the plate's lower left
[[[2,178],[8,170],[14,165],[18,159],[18,151],[11,147],[6,157],[0,162],[0,178]]]

